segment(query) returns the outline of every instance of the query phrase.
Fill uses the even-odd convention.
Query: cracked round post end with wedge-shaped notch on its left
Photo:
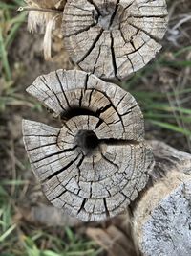
[[[24,120],[32,170],[54,206],[101,221],[137,198],[154,161],[132,95],[83,71],[40,76],[27,91],[53,110],[61,128]]]

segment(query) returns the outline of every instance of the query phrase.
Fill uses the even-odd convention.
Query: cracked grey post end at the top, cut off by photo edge
[[[69,0],[64,43],[82,70],[123,81],[155,58],[167,23],[165,0]]]

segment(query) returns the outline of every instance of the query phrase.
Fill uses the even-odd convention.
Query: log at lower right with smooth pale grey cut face
[[[156,165],[133,206],[135,238],[144,256],[191,255],[191,154],[151,145]]]

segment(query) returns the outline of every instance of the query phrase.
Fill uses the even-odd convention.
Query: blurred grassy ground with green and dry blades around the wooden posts
[[[44,224],[31,216],[34,207],[47,202],[32,175],[20,124],[23,117],[48,122],[45,109],[24,91],[56,65],[43,60],[40,36],[26,32],[26,13],[15,12],[21,4],[0,0],[0,255],[100,255],[102,249],[84,235],[84,225],[69,228],[60,223],[53,228],[46,224],[50,216]],[[142,108],[148,139],[190,152],[191,3],[173,0],[168,7],[163,50],[122,86]]]

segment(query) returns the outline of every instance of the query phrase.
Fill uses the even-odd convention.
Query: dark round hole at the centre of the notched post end
[[[96,133],[93,130],[79,130],[76,142],[85,153],[94,151],[99,144]]]

